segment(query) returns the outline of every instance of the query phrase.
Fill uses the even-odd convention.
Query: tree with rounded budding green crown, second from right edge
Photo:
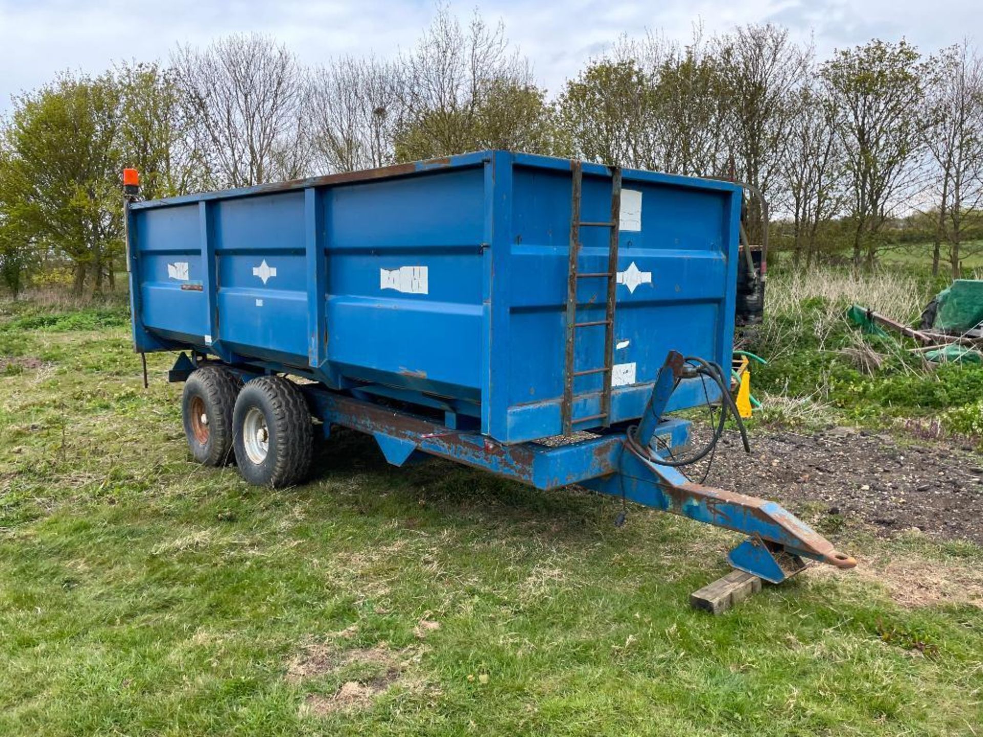
[[[911,164],[922,148],[926,65],[907,41],[872,40],[838,51],[820,71],[838,110],[853,223],[853,265],[877,255],[877,236],[911,192]]]

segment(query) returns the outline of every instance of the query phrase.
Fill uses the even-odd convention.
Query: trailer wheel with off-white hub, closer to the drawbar
[[[236,399],[232,426],[236,464],[261,486],[301,482],[311,469],[314,425],[301,390],[282,376],[247,383]]]

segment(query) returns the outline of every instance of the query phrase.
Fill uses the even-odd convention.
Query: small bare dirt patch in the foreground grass
[[[359,673],[361,675],[345,681],[330,695],[309,694],[301,712],[324,715],[334,711],[368,709],[376,696],[402,680],[404,671],[418,657],[418,652],[390,650],[385,643],[372,648],[349,650],[342,650],[330,643],[318,644],[306,648],[290,661],[286,679],[290,683],[300,684],[346,671]]]

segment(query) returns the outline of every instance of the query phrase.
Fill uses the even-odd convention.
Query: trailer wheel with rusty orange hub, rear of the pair
[[[191,454],[205,466],[222,466],[232,458],[232,410],[242,387],[240,378],[220,366],[205,366],[185,382],[181,415]]]

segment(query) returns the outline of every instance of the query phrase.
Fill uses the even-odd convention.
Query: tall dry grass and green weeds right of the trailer
[[[903,271],[861,279],[838,270],[773,276],[767,322],[749,344],[772,362],[754,369],[753,383],[756,391],[792,402],[771,403],[766,417],[874,426],[939,419],[943,430],[983,442],[983,367],[929,364],[910,350],[913,341],[864,335],[845,318],[846,309],[859,304],[916,321],[935,285]],[[795,402],[797,417],[787,412]],[[806,407],[815,412],[803,412]]]

